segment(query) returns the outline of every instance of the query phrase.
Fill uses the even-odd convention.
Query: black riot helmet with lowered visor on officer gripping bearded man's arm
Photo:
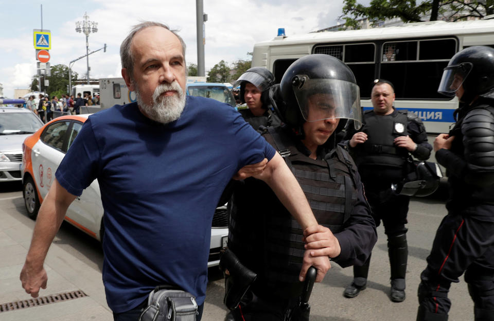
[[[314,54],[299,58],[283,75],[280,91],[285,102],[278,105],[281,118],[297,131],[306,121],[330,118],[354,119],[356,129],[361,126],[360,93],[355,76],[333,56]],[[317,111],[311,103],[313,97],[324,97],[326,102]],[[341,131],[345,124],[346,121],[341,121],[336,131]]]

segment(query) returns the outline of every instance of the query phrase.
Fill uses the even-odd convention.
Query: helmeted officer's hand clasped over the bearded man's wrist
[[[341,247],[338,239],[325,226],[309,226],[304,230],[305,249],[311,256],[329,256],[335,258],[340,255]]]

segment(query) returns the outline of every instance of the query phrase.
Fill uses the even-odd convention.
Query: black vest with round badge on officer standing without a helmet
[[[396,147],[393,140],[407,136],[407,111],[398,111],[391,115],[376,115],[374,111],[364,113],[362,132],[367,140],[355,147],[357,165],[379,165],[402,168],[407,160],[408,151]]]

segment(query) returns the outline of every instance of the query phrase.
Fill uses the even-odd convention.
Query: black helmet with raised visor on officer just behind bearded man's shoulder
[[[234,83],[234,87],[240,85],[239,99],[242,103],[245,103],[245,84],[252,83],[261,92],[261,102],[264,108],[266,108],[266,102],[268,99],[268,89],[274,84],[274,76],[271,72],[263,67],[252,67],[243,73],[237,81]]]

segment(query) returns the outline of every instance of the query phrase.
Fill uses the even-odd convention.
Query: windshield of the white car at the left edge
[[[0,135],[32,134],[42,126],[33,113],[0,113]]]

